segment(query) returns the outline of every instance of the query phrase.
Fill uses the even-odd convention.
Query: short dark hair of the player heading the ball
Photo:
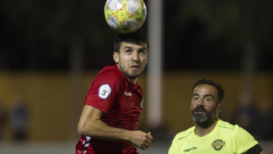
[[[140,42],[144,42],[147,45],[147,49],[149,49],[149,42],[148,38],[145,34],[145,32],[142,29],[139,29],[137,31],[134,31],[132,33],[119,33],[116,35],[114,40],[114,51],[119,53],[120,44],[123,41],[130,40],[137,44],[140,44]]]

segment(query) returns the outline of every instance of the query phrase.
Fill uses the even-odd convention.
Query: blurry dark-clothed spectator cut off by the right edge
[[[260,99],[258,103],[258,114],[253,120],[255,123],[255,132],[253,136],[257,139],[273,140],[272,103],[272,100],[266,97]]]

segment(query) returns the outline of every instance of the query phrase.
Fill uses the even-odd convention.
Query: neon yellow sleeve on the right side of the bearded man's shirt
[[[238,153],[244,153],[251,147],[258,144],[258,142],[254,139],[254,137],[248,133],[243,128],[235,125],[235,142],[236,142],[236,149]]]

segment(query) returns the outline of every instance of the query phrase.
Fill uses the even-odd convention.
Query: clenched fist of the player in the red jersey
[[[139,147],[143,150],[147,149],[152,143],[153,137],[151,132],[145,133],[140,130],[132,131],[131,138],[129,142],[136,147]]]

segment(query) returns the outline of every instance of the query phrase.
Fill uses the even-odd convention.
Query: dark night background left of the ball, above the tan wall
[[[92,58],[84,59],[83,64],[87,68],[105,65],[105,61],[102,64],[95,58],[113,51],[114,32],[105,22],[104,3],[64,0],[1,1],[0,33],[5,44],[1,48],[1,55],[13,59],[6,61],[6,67],[68,68],[69,57],[74,56],[69,54],[69,50],[75,42],[83,50],[81,55]],[[78,49],[73,52],[81,52],[76,50]],[[112,58],[105,56],[104,59]],[[16,63],[18,60],[21,63]]]

